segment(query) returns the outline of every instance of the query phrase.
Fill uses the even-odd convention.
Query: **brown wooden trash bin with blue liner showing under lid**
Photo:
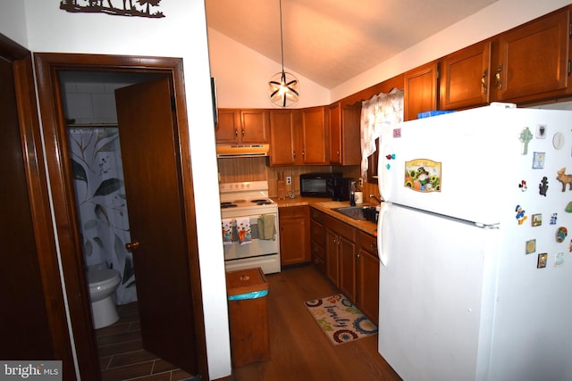
[[[227,271],[226,287],[235,367],[270,360],[268,283],[262,269]]]

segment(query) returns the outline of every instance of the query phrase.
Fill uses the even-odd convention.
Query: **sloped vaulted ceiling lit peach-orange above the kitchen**
[[[333,88],[496,0],[282,0],[284,66]],[[282,62],[280,0],[206,0],[208,27]]]

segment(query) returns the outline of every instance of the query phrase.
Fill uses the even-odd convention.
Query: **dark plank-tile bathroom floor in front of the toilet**
[[[137,302],[118,306],[120,319],[97,329],[103,381],[177,381],[192,376],[143,349]]]

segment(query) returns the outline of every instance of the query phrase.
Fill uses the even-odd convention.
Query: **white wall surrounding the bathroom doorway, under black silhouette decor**
[[[23,0],[21,7],[2,0],[0,21],[15,12],[17,23],[26,25],[27,46],[35,53],[127,54],[171,56],[183,59],[190,129],[190,152],[198,230],[198,251],[206,325],[206,351],[210,377],[231,374],[230,339],[224,278],[223,241],[220,234],[218,170],[214,150],[210,70],[203,0],[164,1],[166,17],[147,19],[103,13],[70,13],[59,1]],[[134,2],[135,3],[135,2]],[[0,22],[0,25],[2,25]],[[4,34],[26,36],[11,26]],[[192,89],[192,91],[190,91]]]

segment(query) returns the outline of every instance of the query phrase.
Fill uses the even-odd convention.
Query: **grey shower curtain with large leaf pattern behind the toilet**
[[[122,154],[117,127],[68,128],[83,256],[88,268],[116,269],[122,281],[115,302],[137,301]]]

